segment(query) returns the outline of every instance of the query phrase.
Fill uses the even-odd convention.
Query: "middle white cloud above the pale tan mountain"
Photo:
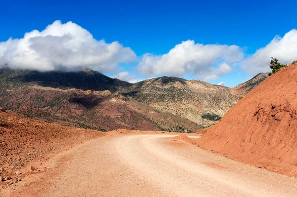
[[[199,79],[218,79],[232,71],[228,64],[243,58],[242,49],[236,45],[200,44],[194,40],[183,41],[163,55],[145,54],[138,70],[143,75],[183,76],[195,75]],[[218,67],[214,65],[220,64]]]

